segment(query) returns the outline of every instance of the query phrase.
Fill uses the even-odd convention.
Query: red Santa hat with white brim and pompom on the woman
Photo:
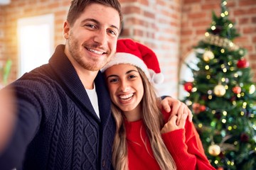
[[[154,84],[161,84],[164,81],[156,54],[149,47],[131,39],[117,40],[116,54],[101,71],[105,72],[116,64],[132,64],[139,67]]]

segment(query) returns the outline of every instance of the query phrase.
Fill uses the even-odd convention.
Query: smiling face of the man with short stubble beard
[[[66,55],[74,67],[100,70],[116,51],[119,26],[119,13],[114,8],[101,4],[87,6],[73,26],[66,21]]]

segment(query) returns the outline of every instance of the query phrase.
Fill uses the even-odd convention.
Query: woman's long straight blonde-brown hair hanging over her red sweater
[[[164,118],[160,111],[160,100],[157,98],[154,87],[150,84],[142,69],[137,67],[144,86],[144,96],[142,97],[142,120],[149,137],[151,148],[156,162],[163,170],[176,169],[174,159],[161,139],[161,128],[164,125]],[[150,103],[150,104],[149,104]],[[149,107],[150,106],[150,107]],[[128,170],[128,150],[126,140],[126,130],[124,127],[124,115],[122,111],[112,103],[112,114],[117,124],[112,149],[112,164],[114,169]]]

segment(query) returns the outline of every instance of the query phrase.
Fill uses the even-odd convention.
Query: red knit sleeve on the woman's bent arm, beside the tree
[[[210,165],[193,123],[186,121],[184,129],[162,134],[167,149],[174,158],[178,170],[215,169]]]

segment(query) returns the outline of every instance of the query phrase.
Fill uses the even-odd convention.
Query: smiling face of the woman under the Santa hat
[[[127,113],[140,114],[144,87],[137,67],[131,64],[114,65],[105,71],[105,76],[112,102],[126,117]]]

